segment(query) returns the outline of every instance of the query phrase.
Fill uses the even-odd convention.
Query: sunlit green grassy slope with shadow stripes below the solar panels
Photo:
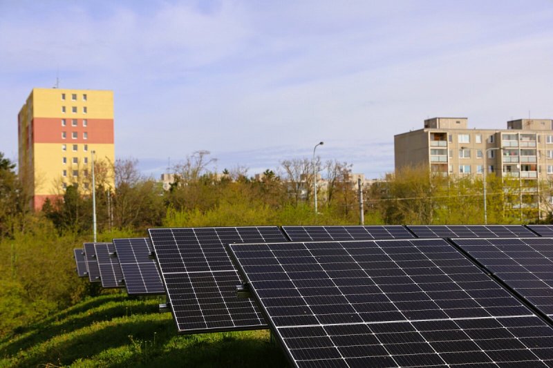
[[[268,331],[178,336],[160,300],[90,298],[0,340],[0,367],[283,367]]]

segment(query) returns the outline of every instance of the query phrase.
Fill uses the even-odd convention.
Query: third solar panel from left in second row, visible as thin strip
[[[418,238],[521,238],[537,236],[522,225],[407,225]]]

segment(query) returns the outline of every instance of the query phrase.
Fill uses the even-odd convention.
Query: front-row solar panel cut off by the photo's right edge
[[[553,320],[553,238],[452,240]]]

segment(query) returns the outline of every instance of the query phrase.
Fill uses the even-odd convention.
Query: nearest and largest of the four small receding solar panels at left
[[[165,294],[149,238],[113,239],[129,295]]]

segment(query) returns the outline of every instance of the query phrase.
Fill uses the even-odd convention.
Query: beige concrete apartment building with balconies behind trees
[[[420,130],[395,135],[395,169],[428,165],[433,173],[472,177],[486,170],[518,178],[527,197],[539,190],[538,181],[553,180],[553,120],[512,120],[507,129],[469,129],[467,120],[434,117]]]

